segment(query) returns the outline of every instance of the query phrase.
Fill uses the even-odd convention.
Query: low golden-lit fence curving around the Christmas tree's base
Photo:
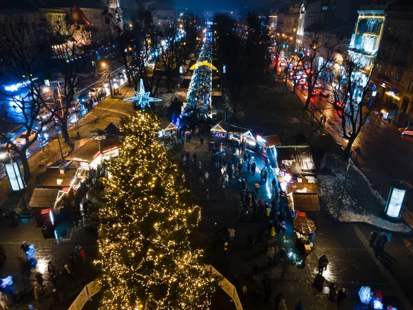
[[[231,297],[231,302],[234,302],[235,308],[237,310],[243,310],[241,300],[238,296],[235,286],[231,282],[229,282],[229,280],[226,280],[226,278],[222,276],[220,271],[215,269],[212,265],[205,265],[205,269],[207,269],[207,271],[209,271],[212,275],[218,276],[220,279],[222,279],[220,280],[220,282],[218,282],[218,285],[220,285],[221,289],[223,289],[225,293],[227,293],[228,296]],[[98,283],[97,280],[90,282],[88,285],[83,287],[81,293],[79,293],[72,305],[67,310],[81,310],[85,306],[86,302],[92,300],[92,296],[98,293],[100,289],[102,289],[102,286]]]

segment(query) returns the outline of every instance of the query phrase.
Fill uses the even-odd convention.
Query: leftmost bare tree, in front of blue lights
[[[34,39],[41,34],[41,29],[36,23],[19,17],[2,23],[0,32],[1,75],[8,81],[14,81],[15,85],[19,85],[12,90],[1,87],[2,99],[12,101],[18,116],[12,117],[7,114],[3,116],[0,122],[0,136],[7,142],[9,150],[19,154],[24,178],[27,181],[31,174],[26,151],[36,141],[42,127],[36,118],[44,105],[41,92],[44,79],[37,74],[42,72],[45,52],[41,42]],[[24,136],[23,143],[17,143],[11,131],[21,127],[28,134]],[[30,136],[31,132],[35,132],[35,135]]]

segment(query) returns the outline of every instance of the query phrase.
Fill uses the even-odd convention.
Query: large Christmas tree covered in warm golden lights
[[[100,309],[208,309],[214,285],[189,236],[199,207],[182,202],[178,169],[148,114],[123,121],[125,141],[108,164],[100,209]]]

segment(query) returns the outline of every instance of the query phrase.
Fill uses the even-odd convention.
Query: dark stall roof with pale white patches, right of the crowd
[[[315,173],[313,154],[308,145],[277,146],[277,164],[293,174]]]

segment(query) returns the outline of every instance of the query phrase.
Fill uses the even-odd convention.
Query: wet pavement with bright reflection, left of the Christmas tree
[[[41,227],[36,227],[33,220],[20,220],[17,227],[11,227],[11,220],[6,218],[0,222],[0,245],[6,250],[7,259],[0,267],[0,278],[13,276],[15,290],[26,289],[28,296],[19,302],[17,309],[28,309],[32,304],[35,309],[67,309],[83,287],[96,278],[96,271],[92,267],[92,260],[96,257],[96,236],[83,227],[82,223],[72,227],[67,223],[61,223],[56,227],[57,238],[43,238]],[[36,267],[32,269],[30,278],[23,276],[18,258],[23,257],[20,249],[21,242],[34,244],[37,260]],[[59,282],[61,306],[52,304],[50,293],[52,283],[47,272],[47,262],[54,262],[56,270],[63,269],[69,264],[69,254],[74,251],[76,245],[82,245],[86,254],[86,262],[76,265],[74,269],[74,282],[63,280]],[[39,303],[34,301],[33,288],[36,272],[43,273],[43,285],[45,285],[45,300]],[[10,291],[6,291],[10,293]]]

